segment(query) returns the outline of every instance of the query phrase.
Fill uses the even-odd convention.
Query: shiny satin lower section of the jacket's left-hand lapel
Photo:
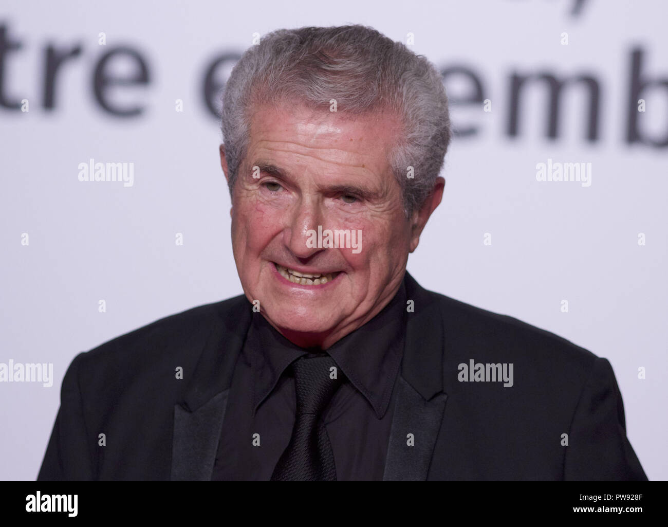
[[[211,480],[229,392],[220,392],[194,412],[174,406],[173,482]]]

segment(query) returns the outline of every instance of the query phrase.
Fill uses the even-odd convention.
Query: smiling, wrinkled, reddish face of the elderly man
[[[382,112],[254,109],[232,197],[234,259],[246,298],[259,300],[295,344],[331,346],[373,318],[401,284],[419,232],[387,163],[397,132],[398,120]],[[347,229],[355,238],[347,247],[313,247],[319,227],[325,236]]]

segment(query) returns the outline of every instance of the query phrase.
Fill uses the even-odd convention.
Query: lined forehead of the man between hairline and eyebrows
[[[385,169],[400,130],[396,114],[383,110],[352,115],[300,104],[265,104],[253,108],[248,154],[305,155],[325,162],[375,165],[378,169],[382,165]]]

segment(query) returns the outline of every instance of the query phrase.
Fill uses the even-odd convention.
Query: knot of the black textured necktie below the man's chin
[[[341,385],[341,372],[331,356],[303,356],[293,363],[297,414],[319,415]]]

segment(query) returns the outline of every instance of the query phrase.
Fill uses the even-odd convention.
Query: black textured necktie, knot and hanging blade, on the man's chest
[[[305,355],[295,360],[292,368],[297,394],[295,427],[271,481],[335,482],[334,454],[321,416],[343,375],[327,354]]]

